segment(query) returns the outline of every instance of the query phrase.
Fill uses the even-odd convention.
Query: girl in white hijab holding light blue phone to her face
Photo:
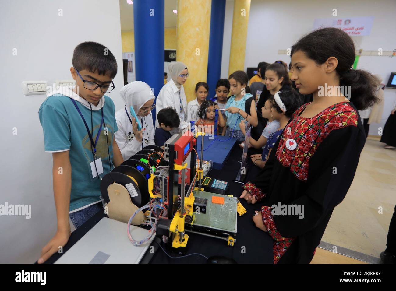
[[[114,134],[124,160],[128,160],[147,145],[154,145],[154,126],[151,110],[155,107],[155,96],[145,82],[135,81],[121,88],[121,98],[125,107],[115,114],[118,131]],[[130,107],[139,118],[142,126],[137,129],[137,122],[130,113]]]

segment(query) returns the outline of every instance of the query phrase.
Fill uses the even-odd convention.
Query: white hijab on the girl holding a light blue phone
[[[145,82],[141,81],[135,81],[126,84],[121,88],[120,95],[122,100],[124,100],[128,112],[129,107],[132,106],[136,114],[147,101],[155,99],[155,96],[152,93],[150,86],[148,86]]]

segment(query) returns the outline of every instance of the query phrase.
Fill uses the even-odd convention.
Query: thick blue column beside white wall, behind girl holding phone
[[[136,80],[147,83],[157,97],[164,86],[164,0],[134,0]],[[152,110],[155,121],[155,108]]]

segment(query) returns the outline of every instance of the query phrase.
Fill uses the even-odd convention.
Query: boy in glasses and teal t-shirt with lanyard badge
[[[117,62],[107,48],[83,42],[73,53],[70,68],[75,87],[61,87],[40,106],[44,147],[52,153],[57,232],[42,249],[46,261],[69,240],[69,217],[76,228],[101,208],[100,181],[123,158],[114,139],[118,130],[113,101]],[[98,177],[99,176],[99,177]]]

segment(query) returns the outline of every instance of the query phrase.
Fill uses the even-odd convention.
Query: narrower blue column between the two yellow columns
[[[221,53],[223,51],[224,17],[225,0],[212,0],[207,76],[209,94],[207,99],[214,97],[216,83],[217,80],[220,79]]]

